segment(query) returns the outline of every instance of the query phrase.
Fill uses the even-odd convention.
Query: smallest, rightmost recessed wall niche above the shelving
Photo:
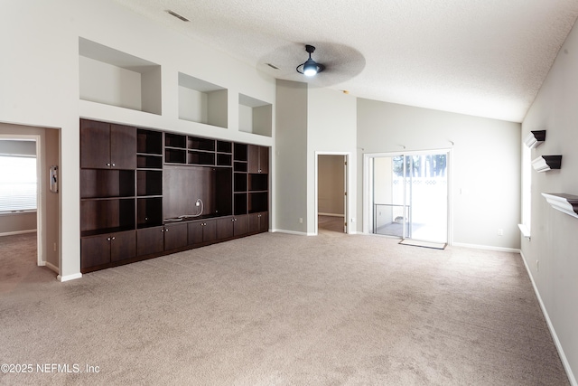
[[[273,135],[273,105],[263,100],[238,95],[238,129],[259,136]]]

